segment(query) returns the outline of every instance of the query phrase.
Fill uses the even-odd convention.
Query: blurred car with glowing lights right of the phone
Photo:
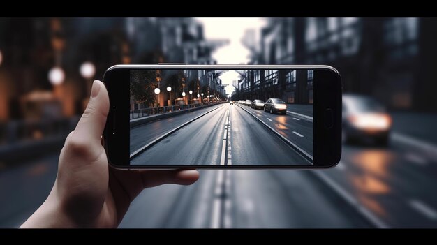
[[[368,96],[343,94],[342,141],[373,139],[387,145],[390,139],[392,118],[385,107]]]

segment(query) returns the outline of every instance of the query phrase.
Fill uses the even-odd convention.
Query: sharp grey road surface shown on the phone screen
[[[228,103],[131,128],[131,153],[191,119],[195,120],[131,157],[131,164],[311,164],[302,155],[313,152],[312,121]],[[296,144],[297,149],[262,123]]]

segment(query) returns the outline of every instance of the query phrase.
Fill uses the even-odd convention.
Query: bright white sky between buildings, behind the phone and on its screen
[[[249,50],[242,45],[242,38],[246,29],[259,31],[265,23],[261,18],[196,18],[202,22],[205,39],[228,39],[230,43],[218,48],[212,57],[217,64],[247,64]],[[238,73],[228,71],[221,75],[223,84],[232,84],[238,80]],[[228,93],[233,91],[232,86],[225,87]]]

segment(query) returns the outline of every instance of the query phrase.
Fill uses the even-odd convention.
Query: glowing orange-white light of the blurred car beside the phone
[[[356,128],[368,130],[385,130],[392,125],[392,119],[387,114],[369,113],[348,117],[350,123]]]

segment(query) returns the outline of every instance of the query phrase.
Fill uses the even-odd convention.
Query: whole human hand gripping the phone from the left
[[[116,170],[102,147],[108,91],[94,81],[82,118],[66,138],[47,200],[21,228],[116,228],[133,199],[161,184],[193,184],[197,170]]]

